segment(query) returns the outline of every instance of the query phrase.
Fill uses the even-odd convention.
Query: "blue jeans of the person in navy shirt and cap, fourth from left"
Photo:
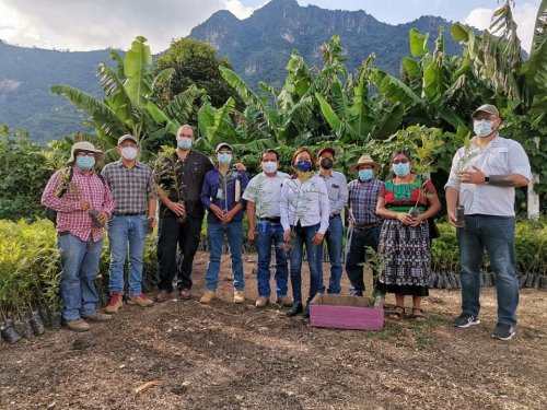
[[[209,243],[209,265],[206,272],[206,288],[216,292],[219,285],[220,258],[222,257],[222,244],[226,234],[232,258],[232,276],[234,279],[234,290],[243,291],[243,223],[242,221],[226,224],[210,223],[207,226],[207,241]]]

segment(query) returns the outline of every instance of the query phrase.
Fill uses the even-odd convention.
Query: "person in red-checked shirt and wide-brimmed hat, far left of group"
[[[72,145],[68,168],[56,172],[42,195],[42,203],[57,211],[58,247],[61,250],[60,293],[62,318],[70,330],[85,331],[83,320],[106,321],[100,313],[95,278],[103,249],[103,226],[114,200],[95,164],[103,152],[91,142]]]

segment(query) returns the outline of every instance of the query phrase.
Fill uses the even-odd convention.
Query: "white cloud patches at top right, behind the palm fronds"
[[[490,26],[493,11],[494,9],[472,10],[464,22],[479,30],[488,28]],[[537,4],[529,2],[516,3],[513,9],[513,17],[517,24],[516,34],[521,39],[522,48],[524,48],[527,52],[529,52],[532,47],[536,14]]]

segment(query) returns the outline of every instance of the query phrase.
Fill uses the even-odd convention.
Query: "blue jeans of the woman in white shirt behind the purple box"
[[[292,284],[292,297],[294,302],[302,302],[302,249],[304,244],[306,246],[307,253],[307,266],[310,267],[310,295],[307,296],[307,303],[317,294],[319,288],[319,272],[317,271],[317,248],[321,245],[314,245],[312,243],[313,237],[319,230],[319,224],[311,226],[300,226],[293,227],[294,247],[291,250],[291,284]]]

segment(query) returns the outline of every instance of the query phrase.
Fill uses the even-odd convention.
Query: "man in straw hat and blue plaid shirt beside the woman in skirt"
[[[376,215],[376,202],[382,183],[375,178],[380,164],[370,155],[362,155],[350,169],[358,175],[348,184],[348,243],[346,244],[346,273],[352,289],[350,293],[362,296],[364,292],[363,262],[366,247],[377,250],[382,219]]]

